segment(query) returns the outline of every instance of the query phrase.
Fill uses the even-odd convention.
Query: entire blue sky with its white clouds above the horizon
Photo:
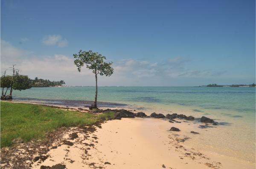
[[[93,86],[73,54],[113,62],[99,86],[201,86],[256,80],[255,0],[1,0],[1,72]]]

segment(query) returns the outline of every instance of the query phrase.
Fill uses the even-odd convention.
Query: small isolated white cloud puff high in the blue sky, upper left
[[[67,46],[68,41],[67,39],[62,39],[61,35],[47,35],[43,38],[42,43],[48,46],[58,46],[60,48],[63,48]]]

